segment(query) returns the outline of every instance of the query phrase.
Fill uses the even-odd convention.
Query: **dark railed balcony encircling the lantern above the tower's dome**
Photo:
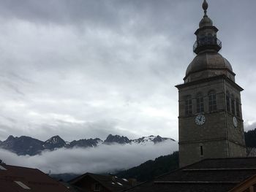
[[[222,48],[222,42],[217,37],[200,37],[193,45],[193,51],[199,53],[202,50],[214,49],[219,51]]]

